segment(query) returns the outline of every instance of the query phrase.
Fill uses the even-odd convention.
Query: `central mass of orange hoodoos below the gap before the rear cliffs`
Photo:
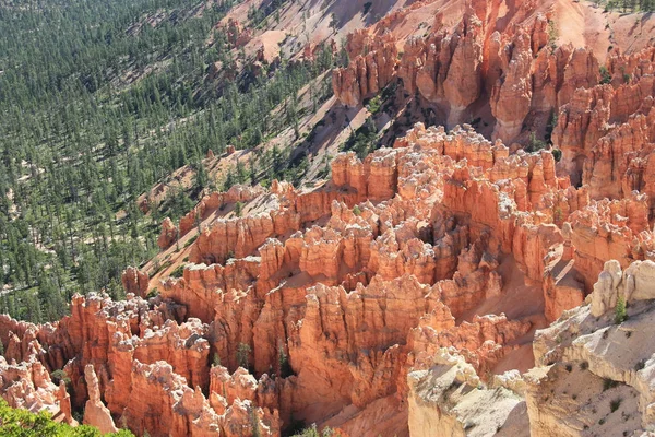
[[[252,201],[269,209],[211,222],[183,277],[164,280],[160,296],[78,296],[52,326],[0,319],[7,355],[64,368],[72,403],[86,404],[85,421],[105,429],[279,435],[291,417],[366,414],[377,401],[402,417],[407,371],[429,367],[442,347],[481,375],[519,353],[535,320],[471,316],[507,293],[513,273],[500,269],[503,260],[513,258],[531,284],[565,244],[580,246],[574,262],[596,265],[581,258],[587,249],[576,233],[600,204],[557,177],[550,153],[510,155],[471,127],[417,125],[394,149],[337,156],[323,186],[248,192],[230,199],[248,203],[260,192]],[[636,232],[647,224],[647,205],[636,201],[607,204],[595,220]],[[203,204],[196,210],[219,202]],[[612,239],[621,244],[631,250],[632,239]],[[129,291],[141,290],[140,277],[126,272]],[[544,292],[551,312],[576,304],[552,286]]]

